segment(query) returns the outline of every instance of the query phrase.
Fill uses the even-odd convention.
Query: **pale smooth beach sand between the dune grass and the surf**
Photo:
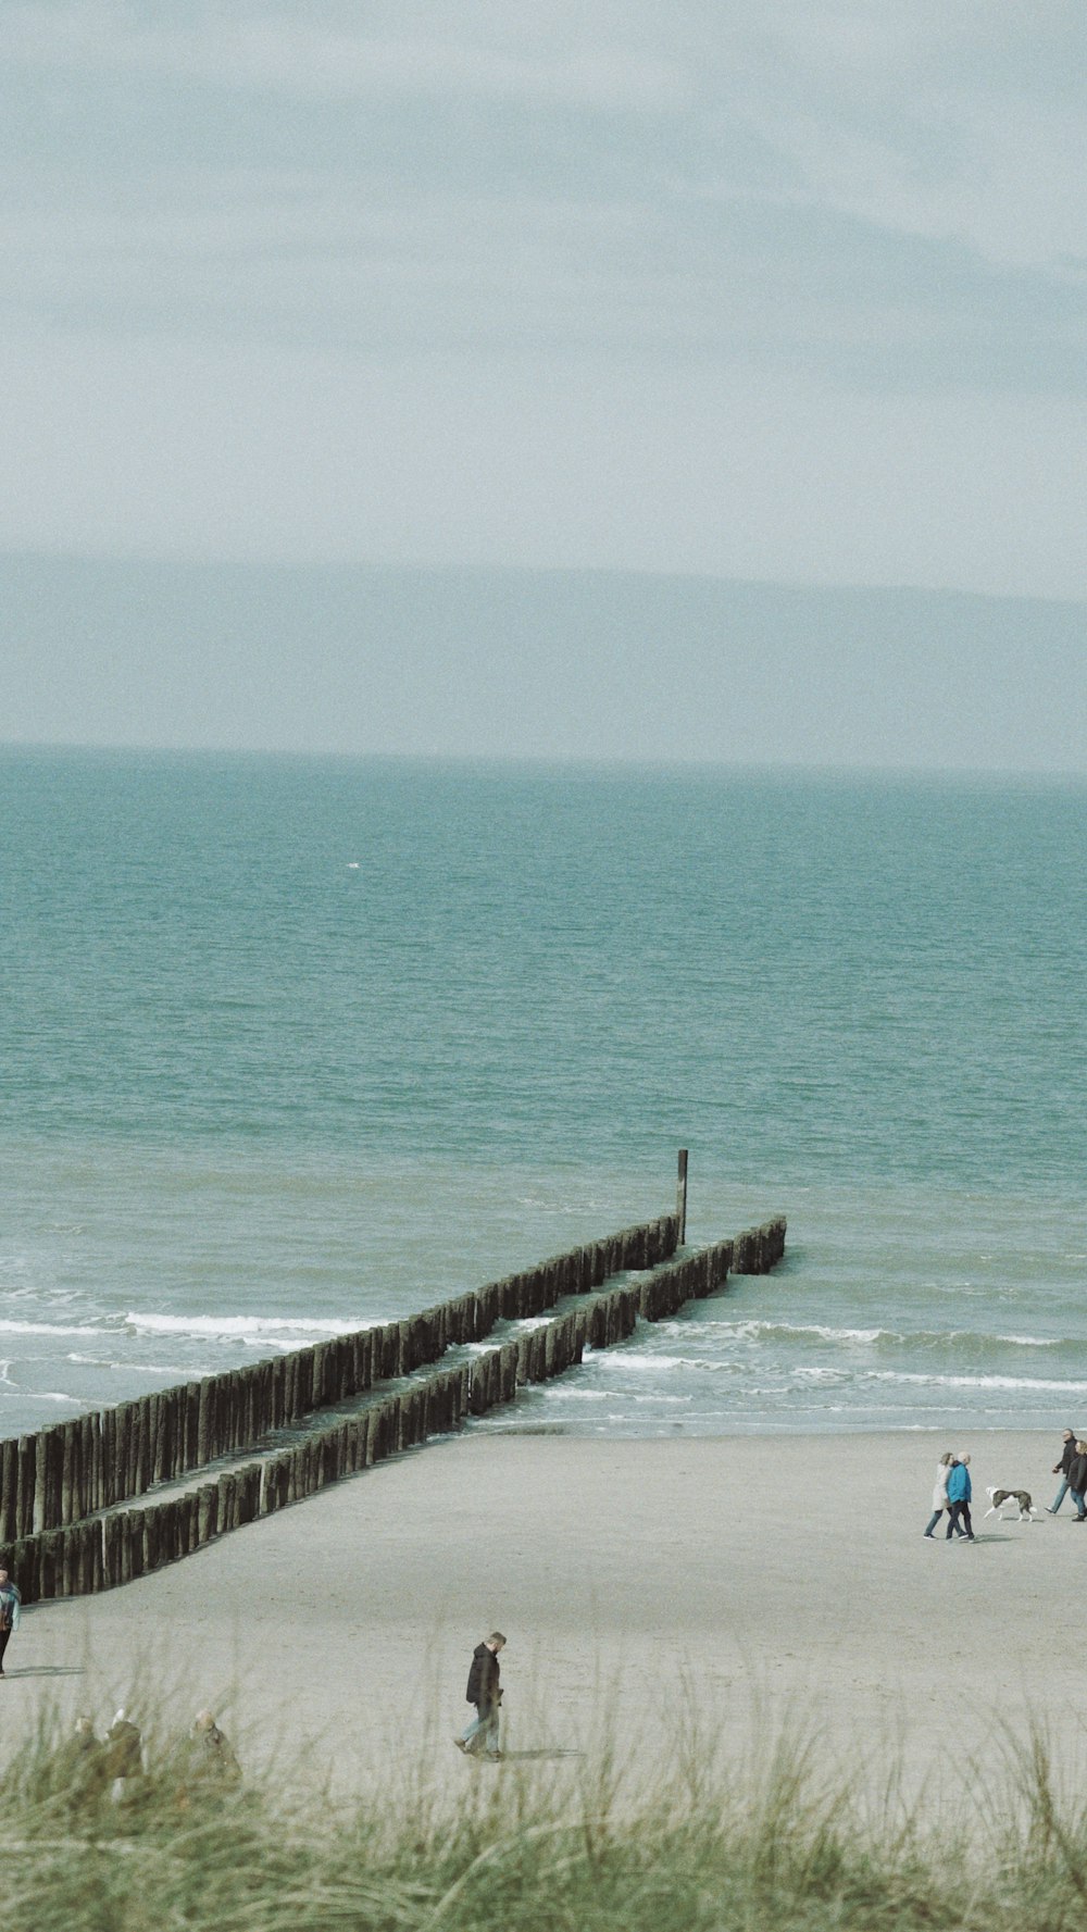
[[[973,1546],[921,1532],[936,1455],[969,1447]],[[768,1748],[801,1719],[828,1762],[902,1764],[909,1793],[1002,1760],[1041,1721],[1087,1770],[1087,1526],[981,1520],[985,1484],[1056,1488],[1050,1435],[602,1441],[465,1430],[104,1596],[25,1613],[4,1745],[42,1696],[108,1723],[162,1694],[226,1710],[245,1762],[288,1741],[365,1791],[452,1747],[490,1629],[510,1760],[593,1752],[653,1772],[678,1737]],[[133,1712],[139,1716],[139,1710]]]

